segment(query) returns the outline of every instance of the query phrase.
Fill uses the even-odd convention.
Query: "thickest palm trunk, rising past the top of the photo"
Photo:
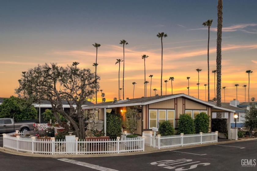
[[[218,0],[218,24],[217,24],[217,106],[221,107],[221,42],[222,42],[222,0]],[[217,112],[217,118],[221,118],[221,112]]]

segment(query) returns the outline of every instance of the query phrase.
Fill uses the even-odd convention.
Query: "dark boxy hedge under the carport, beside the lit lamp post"
[[[211,131],[227,133],[228,132],[228,118],[212,118],[211,119]]]

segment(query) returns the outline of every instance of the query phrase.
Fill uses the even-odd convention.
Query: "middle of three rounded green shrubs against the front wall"
[[[194,120],[188,114],[180,114],[177,126],[178,133],[195,134]]]

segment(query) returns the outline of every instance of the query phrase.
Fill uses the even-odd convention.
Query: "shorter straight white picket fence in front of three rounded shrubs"
[[[218,142],[218,131],[173,136],[154,136],[143,132],[143,136],[145,136],[145,145],[158,149]]]

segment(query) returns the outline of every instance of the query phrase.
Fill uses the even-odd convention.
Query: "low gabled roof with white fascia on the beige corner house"
[[[151,103],[161,102],[164,100],[174,99],[177,97],[184,97],[186,99],[193,100],[200,104],[204,104],[206,106],[215,107],[215,105],[205,102],[203,100],[197,99],[193,96],[186,95],[184,93],[180,94],[173,94],[173,95],[162,95],[162,96],[154,96],[154,97],[143,97],[143,98],[136,98],[136,99],[126,99],[126,100],[119,100],[116,102],[102,102],[97,103],[94,105],[88,105],[83,107],[83,109],[96,109],[96,108],[112,108],[112,107],[124,107],[124,106],[138,106],[138,105],[148,105]]]

